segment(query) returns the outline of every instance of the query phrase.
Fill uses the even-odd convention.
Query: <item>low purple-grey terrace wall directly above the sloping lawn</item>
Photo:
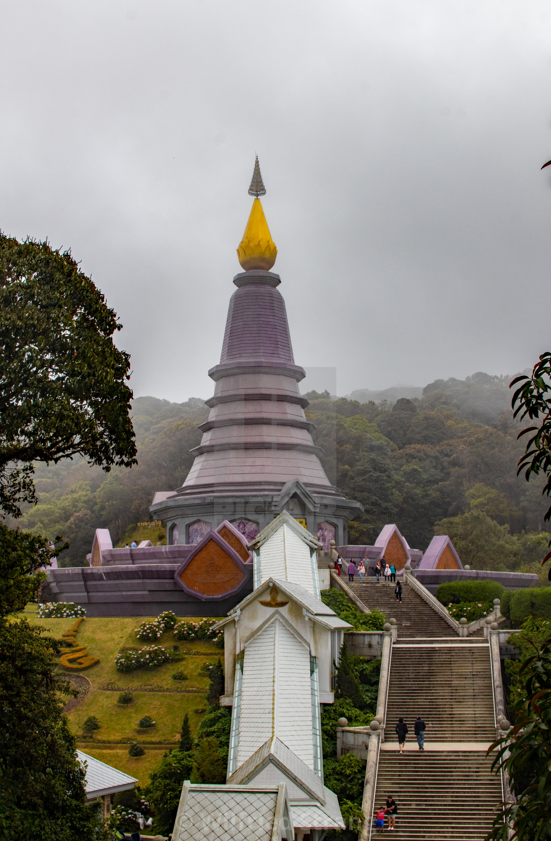
[[[45,601],[74,601],[87,616],[225,616],[252,593],[252,572],[229,599],[201,600],[185,593],[174,580],[179,563],[50,569]]]

